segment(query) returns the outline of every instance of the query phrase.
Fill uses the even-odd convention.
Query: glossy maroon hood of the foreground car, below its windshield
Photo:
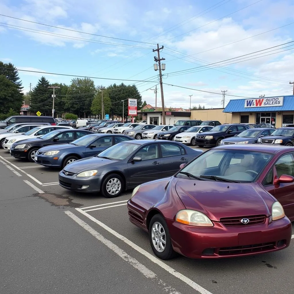
[[[275,201],[257,183],[177,180],[176,192],[186,208],[201,211],[211,220],[257,214],[269,216]]]

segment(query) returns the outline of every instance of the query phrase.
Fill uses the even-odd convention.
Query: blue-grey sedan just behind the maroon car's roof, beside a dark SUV
[[[225,138],[220,141],[220,145],[228,144],[254,144],[258,138],[269,136],[275,129],[272,128],[250,128],[235,137]]]

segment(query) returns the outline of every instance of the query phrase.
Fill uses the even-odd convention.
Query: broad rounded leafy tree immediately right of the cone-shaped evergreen
[[[90,78],[74,78],[67,91],[66,109],[78,117],[91,114],[92,101],[97,93],[94,81]]]

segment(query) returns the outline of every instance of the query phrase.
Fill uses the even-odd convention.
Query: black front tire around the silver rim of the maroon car
[[[165,240],[166,244],[162,252],[158,251],[158,249],[156,249],[156,246],[153,243],[152,232],[156,234],[156,232],[153,230],[153,224],[155,224],[155,227],[157,224],[161,225],[165,233],[165,236],[163,236],[162,239]],[[160,230],[160,232],[163,232],[163,231]],[[158,238],[156,239],[158,240]],[[173,250],[173,245],[171,244],[171,236],[169,234],[168,226],[166,224],[166,221],[160,214],[156,214],[155,216],[153,216],[153,218],[151,218],[151,221],[149,224],[149,241],[150,241],[151,248],[157,257],[167,260],[176,256],[176,252]],[[156,240],[154,242],[156,242]]]

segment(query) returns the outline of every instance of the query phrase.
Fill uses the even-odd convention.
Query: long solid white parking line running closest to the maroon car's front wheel
[[[167,265],[166,263],[164,263],[162,260],[158,259],[157,257],[155,257],[154,255],[150,254],[149,252],[147,252],[143,248],[139,247],[137,244],[133,243],[131,240],[129,240],[126,237],[124,237],[123,235],[117,233],[115,230],[109,228],[107,225],[105,225],[104,223],[102,223],[100,220],[97,220],[96,218],[94,218],[90,214],[86,213],[85,211],[82,211],[80,208],[76,208],[76,210],[79,211],[80,213],[82,213],[84,216],[86,216],[90,220],[92,220],[97,225],[100,225],[102,228],[104,228],[105,230],[107,230],[109,233],[111,233],[112,235],[114,235],[118,239],[120,239],[123,242],[125,242],[126,244],[130,245],[133,249],[135,249],[139,253],[143,254],[146,258],[148,258],[153,263],[155,263],[156,265],[158,265],[161,268],[163,268],[164,270],[166,270],[171,275],[175,276],[176,278],[180,279],[181,281],[183,281],[187,285],[191,286],[194,290],[200,292],[201,294],[212,294],[211,292],[209,292],[208,290],[204,289],[203,287],[201,287],[200,285],[198,285],[197,283],[195,283],[194,281],[192,281],[188,277],[184,276],[183,274],[181,274],[178,271],[176,271],[173,268],[171,268],[169,265]]]

